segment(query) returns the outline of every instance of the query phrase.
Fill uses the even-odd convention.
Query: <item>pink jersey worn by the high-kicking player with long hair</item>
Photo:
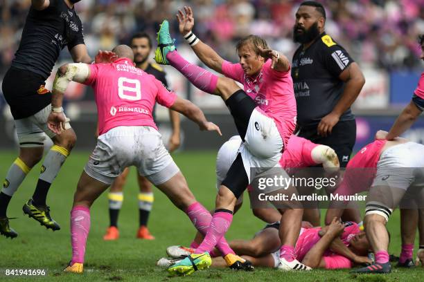
[[[268,59],[256,77],[248,77],[240,64],[222,63],[222,73],[226,77],[243,84],[245,93],[270,118],[274,119],[277,129],[287,147],[288,140],[296,126],[296,99],[294,98],[293,80],[290,68],[281,73],[271,68]]]

